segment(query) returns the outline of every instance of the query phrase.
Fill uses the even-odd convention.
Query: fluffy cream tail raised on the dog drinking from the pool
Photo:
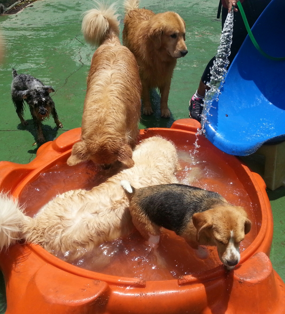
[[[102,41],[112,33],[118,36],[120,32],[115,3],[109,7],[103,3],[96,3],[98,8],[85,12],[81,27],[85,41],[92,46],[100,46]]]

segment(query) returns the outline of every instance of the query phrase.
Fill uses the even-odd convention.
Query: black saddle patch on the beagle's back
[[[158,226],[176,234],[192,219],[193,214],[224,203],[216,192],[184,184],[162,184],[137,189],[132,202]]]

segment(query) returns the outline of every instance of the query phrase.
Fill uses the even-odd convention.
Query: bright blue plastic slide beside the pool
[[[268,55],[285,57],[285,1],[272,0],[251,30]],[[285,61],[262,56],[247,36],[212,106],[206,137],[228,154],[285,140]]]

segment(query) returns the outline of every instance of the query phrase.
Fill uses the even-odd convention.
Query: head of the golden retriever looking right
[[[174,12],[156,14],[150,20],[150,38],[156,49],[165,49],[173,58],[187,54],[185,44],[185,22]]]

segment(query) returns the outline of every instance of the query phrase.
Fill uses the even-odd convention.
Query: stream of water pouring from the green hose
[[[205,125],[209,123],[208,116],[209,111],[214,106],[212,106],[214,101],[218,101],[218,97],[221,94],[220,90],[225,82],[225,76],[227,73],[227,66],[229,64],[228,56],[231,53],[231,44],[233,37],[233,10],[227,14],[227,18],[222,30],[222,35],[220,39],[220,45],[217,50],[216,60],[214,61],[213,67],[211,68],[211,79],[206,85],[210,87],[206,91],[204,98],[204,106],[201,115],[201,129],[198,128],[196,132],[196,140],[194,145],[193,154],[190,154],[191,165],[196,165],[194,160],[195,154],[198,153],[200,145],[198,145],[198,135],[205,134]]]

